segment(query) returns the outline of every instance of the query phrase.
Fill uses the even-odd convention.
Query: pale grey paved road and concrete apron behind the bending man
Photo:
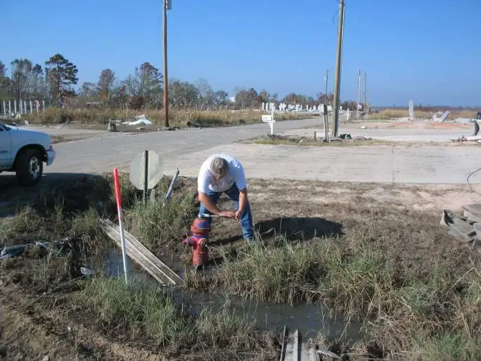
[[[319,124],[318,119],[276,123],[276,133]],[[239,144],[267,133],[267,124],[243,127],[118,134],[56,144],[57,159],[46,173],[100,173],[128,164],[144,149],[164,160],[164,173],[196,176],[216,152],[231,153],[247,177],[346,182],[465,184],[481,167],[481,146],[271,146]],[[395,132],[395,130],[393,130]],[[447,135],[447,134],[446,134]],[[443,134],[443,136],[445,136]],[[481,172],[471,182],[481,183]]]

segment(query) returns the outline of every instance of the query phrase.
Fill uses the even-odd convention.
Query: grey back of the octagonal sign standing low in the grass
[[[147,188],[152,189],[159,183],[163,171],[162,160],[155,151],[146,151],[148,161],[147,161]],[[139,190],[144,189],[144,179],[145,179],[145,157],[146,152],[139,153],[131,162],[131,173],[128,177],[135,188]]]

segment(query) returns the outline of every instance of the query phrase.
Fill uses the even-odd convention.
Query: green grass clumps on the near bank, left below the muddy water
[[[276,353],[271,334],[258,331],[227,309],[216,314],[203,309],[198,316],[183,313],[172,294],[153,283],[126,284],[122,278],[93,278],[74,302],[87,307],[117,332],[133,339],[146,335],[170,356],[196,349],[218,357],[218,353],[248,351],[258,353],[256,359],[262,360]]]

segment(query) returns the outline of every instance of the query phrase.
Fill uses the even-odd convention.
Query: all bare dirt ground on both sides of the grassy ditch
[[[77,190],[86,189],[82,186],[87,178],[82,179],[74,183]],[[183,181],[194,187],[194,179]],[[47,179],[26,190],[17,187],[13,178],[3,178],[0,202],[10,212],[3,212],[0,221],[14,217],[16,206],[31,203],[58,182],[65,179]],[[75,197],[78,193],[71,193]],[[383,251],[394,263],[420,276],[434,265],[463,274],[471,261],[480,261],[478,252],[449,237],[439,225],[443,208],[458,212],[462,204],[481,202],[481,195],[469,186],[251,179],[249,199],[255,228],[267,244],[275,234],[286,234],[291,241],[333,237],[344,242],[346,250],[355,250],[362,239],[381,239]],[[221,208],[231,207],[223,197]],[[234,221],[215,219],[212,256],[221,247],[235,247],[241,238],[240,226]],[[181,244],[182,239],[179,234],[168,248],[153,251],[168,264],[188,265],[191,252]],[[38,286],[23,282],[30,262],[28,256],[0,260],[0,360],[163,360],[155,344],[142,338],[125,340],[93,315],[67,307],[68,298],[76,292],[74,283],[43,294]],[[185,359],[196,356],[185,355]]]

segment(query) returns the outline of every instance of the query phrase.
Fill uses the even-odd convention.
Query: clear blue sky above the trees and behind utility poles
[[[162,69],[161,0],[0,0],[0,60],[63,54],[79,85],[105,67],[118,79]],[[333,89],[337,0],[172,0],[169,78],[214,89]],[[481,0],[346,0],[342,100],[368,73],[373,105],[481,105]],[[333,17],[335,21],[333,23]],[[6,30],[6,32],[5,32]]]

